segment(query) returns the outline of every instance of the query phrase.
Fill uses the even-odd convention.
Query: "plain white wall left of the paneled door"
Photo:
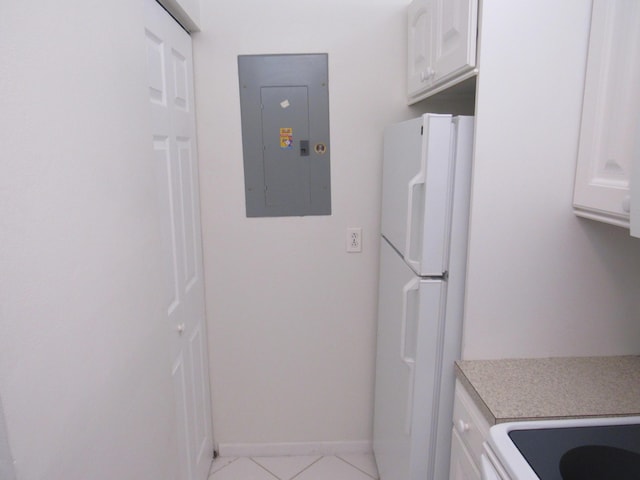
[[[0,392],[20,480],[175,478],[142,12],[0,7]]]

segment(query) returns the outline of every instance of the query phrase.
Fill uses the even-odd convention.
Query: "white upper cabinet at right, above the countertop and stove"
[[[573,198],[577,215],[629,228],[639,129],[640,2],[594,0]]]

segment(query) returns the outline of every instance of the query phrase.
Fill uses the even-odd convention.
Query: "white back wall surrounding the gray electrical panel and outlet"
[[[202,2],[194,52],[221,444],[371,438],[382,131],[409,113],[406,5]],[[333,214],[247,219],[237,55],[314,52],[329,54]],[[361,254],[345,252],[350,226],[363,228]]]

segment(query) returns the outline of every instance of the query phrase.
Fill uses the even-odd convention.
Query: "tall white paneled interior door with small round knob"
[[[149,103],[159,179],[181,480],[207,478],[213,457],[191,37],[146,2]]]

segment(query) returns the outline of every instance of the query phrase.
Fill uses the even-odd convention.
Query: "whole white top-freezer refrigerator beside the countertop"
[[[381,480],[446,480],[460,355],[473,117],[384,133],[374,442]]]

